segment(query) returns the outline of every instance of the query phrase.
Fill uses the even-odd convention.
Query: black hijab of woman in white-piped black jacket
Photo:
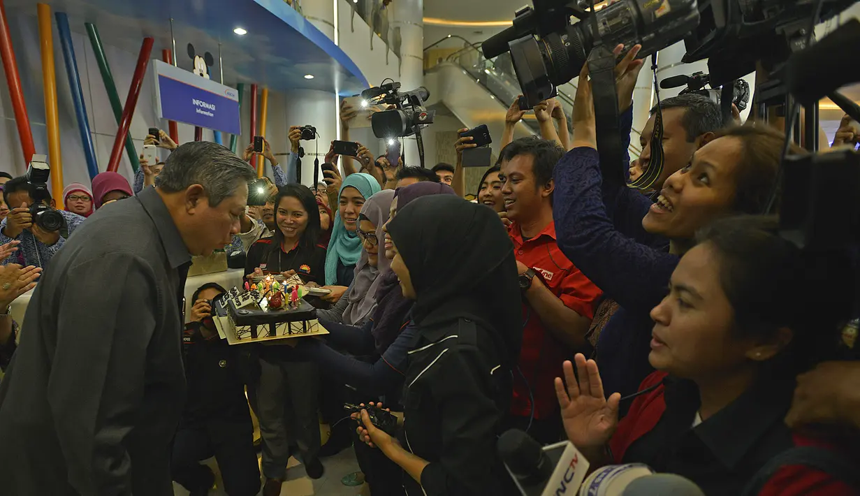
[[[495,211],[454,196],[427,196],[402,210],[398,205],[388,230],[415,288],[415,323],[479,321],[494,331],[506,364],[515,366],[522,297],[513,244]]]

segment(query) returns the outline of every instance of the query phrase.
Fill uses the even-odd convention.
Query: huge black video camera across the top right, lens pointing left
[[[619,0],[593,16],[577,2],[534,0],[482,51],[486,58],[511,52],[530,105],[578,76],[598,37],[607,46],[640,44],[640,58],[683,39],[683,61],[709,58],[711,83],[722,86],[753,72],[759,59],[787,58],[818,3],[824,21],[854,0]],[[571,23],[572,15],[581,21]]]

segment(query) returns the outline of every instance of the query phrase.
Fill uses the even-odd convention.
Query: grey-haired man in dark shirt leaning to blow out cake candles
[[[183,144],[155,188],[97,211],[53,257],[0,383],[4,493],[173,494],[182,288],[191,256],[239,231],[254,176],[223,146]]]

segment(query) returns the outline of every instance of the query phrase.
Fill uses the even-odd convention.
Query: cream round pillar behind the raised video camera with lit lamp
[[[401,89],[411,91],[424,85],[424,0],[397,0],[389,3],[391,9],[390,18],[391,33],[389,42],[392,49],[400,46],[400,83]],[[429,138],[433,126],[428,127],[423,133]],[[407,165],[419,165],[418,144],[415,136],[403,140],[403,150],[406,155]],[[432,161],[432,157],[425,157]],[[434,163],[426,162],[428,168]]]

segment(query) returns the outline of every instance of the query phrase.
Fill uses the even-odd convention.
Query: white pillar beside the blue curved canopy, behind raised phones
[[[314,158],[317,156],[322,165],[322,157],[329,151],[329,144],[337,139],[337,117],[335,114],[335,95],[318,89],[293,89],[286,93],[286,126],[316,127],[319,138],[314,141],[301,141],[304,148],[302,158],[302,184],[311,186],[314,181]],[[317,151],[317,146],[319,147]],[[319,175],[322,180],[322,172]]]

